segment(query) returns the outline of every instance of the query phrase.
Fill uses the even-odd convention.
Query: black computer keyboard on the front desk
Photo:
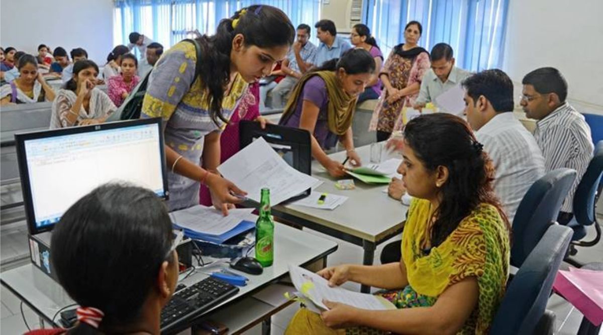
[[[238,287],[212,277],[188,287],[178,285],[174,296],[161,311],[162,333],[175,330],[178,324],[194,319],[237,292]]]

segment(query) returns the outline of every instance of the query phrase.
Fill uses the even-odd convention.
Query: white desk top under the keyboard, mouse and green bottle
[[[239,272],[249,278],[247,286],[239,287],[239,293],[211,308],[207,313],[218,308],[228,308],[229,304],[233,304],[245,296],[259,291],[271,282],[282,278],[288,273],[290,263],[303,266],[321,258],[326,258],[327,255],[337,249],[337,243],[286,225],[276,224],[274,227],[274,248],[273,266],[265,268],[264,273],[257,276]],[[218,267],[209,267],[203,271],[210,272],[215,269],[218,269]],[[206,274],[197,272],[181,283],[190,286],[206,277]],[[50,322],[54,327],[58,327],[55,320],[52,319],[55,317],[55,313],[61,308],[74,303],[58,283],[43,274],[31,263],[2,272],[0,281],[2,285],[36,312],[40,319]],[[292,287],[291,292],[294,290]],[[180,330],[189,327],[191,327],[190,322],[182,324]]]

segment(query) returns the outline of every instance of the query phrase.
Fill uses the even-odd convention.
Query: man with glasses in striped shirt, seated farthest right
[[[533,70],[522,80],[521,105],[526,116],[536,119],[534,137],[545,156],[546,172],[569,167],[578,172],[557,221],[573,217],[573,194],[593,157],[590,127],[584,116],[567,101],[567,82],[554,67]]]

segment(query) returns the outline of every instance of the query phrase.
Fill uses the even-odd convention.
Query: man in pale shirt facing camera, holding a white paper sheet
[[[461,81],[471,75],[471,72],[455,66],[452,47],[446,43],[438,43],[431,49],[431,69],[425,73],[421,81],[421,90],[415,101],[414,108],[421,109],[428,102],[447,90],[461,84]]]

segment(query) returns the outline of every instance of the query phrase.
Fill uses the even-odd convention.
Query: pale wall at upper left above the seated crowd
[[[2,0],[0,45],[37,55],[37,46],[84,48],[99,66],[113,49],[112,0]]]

